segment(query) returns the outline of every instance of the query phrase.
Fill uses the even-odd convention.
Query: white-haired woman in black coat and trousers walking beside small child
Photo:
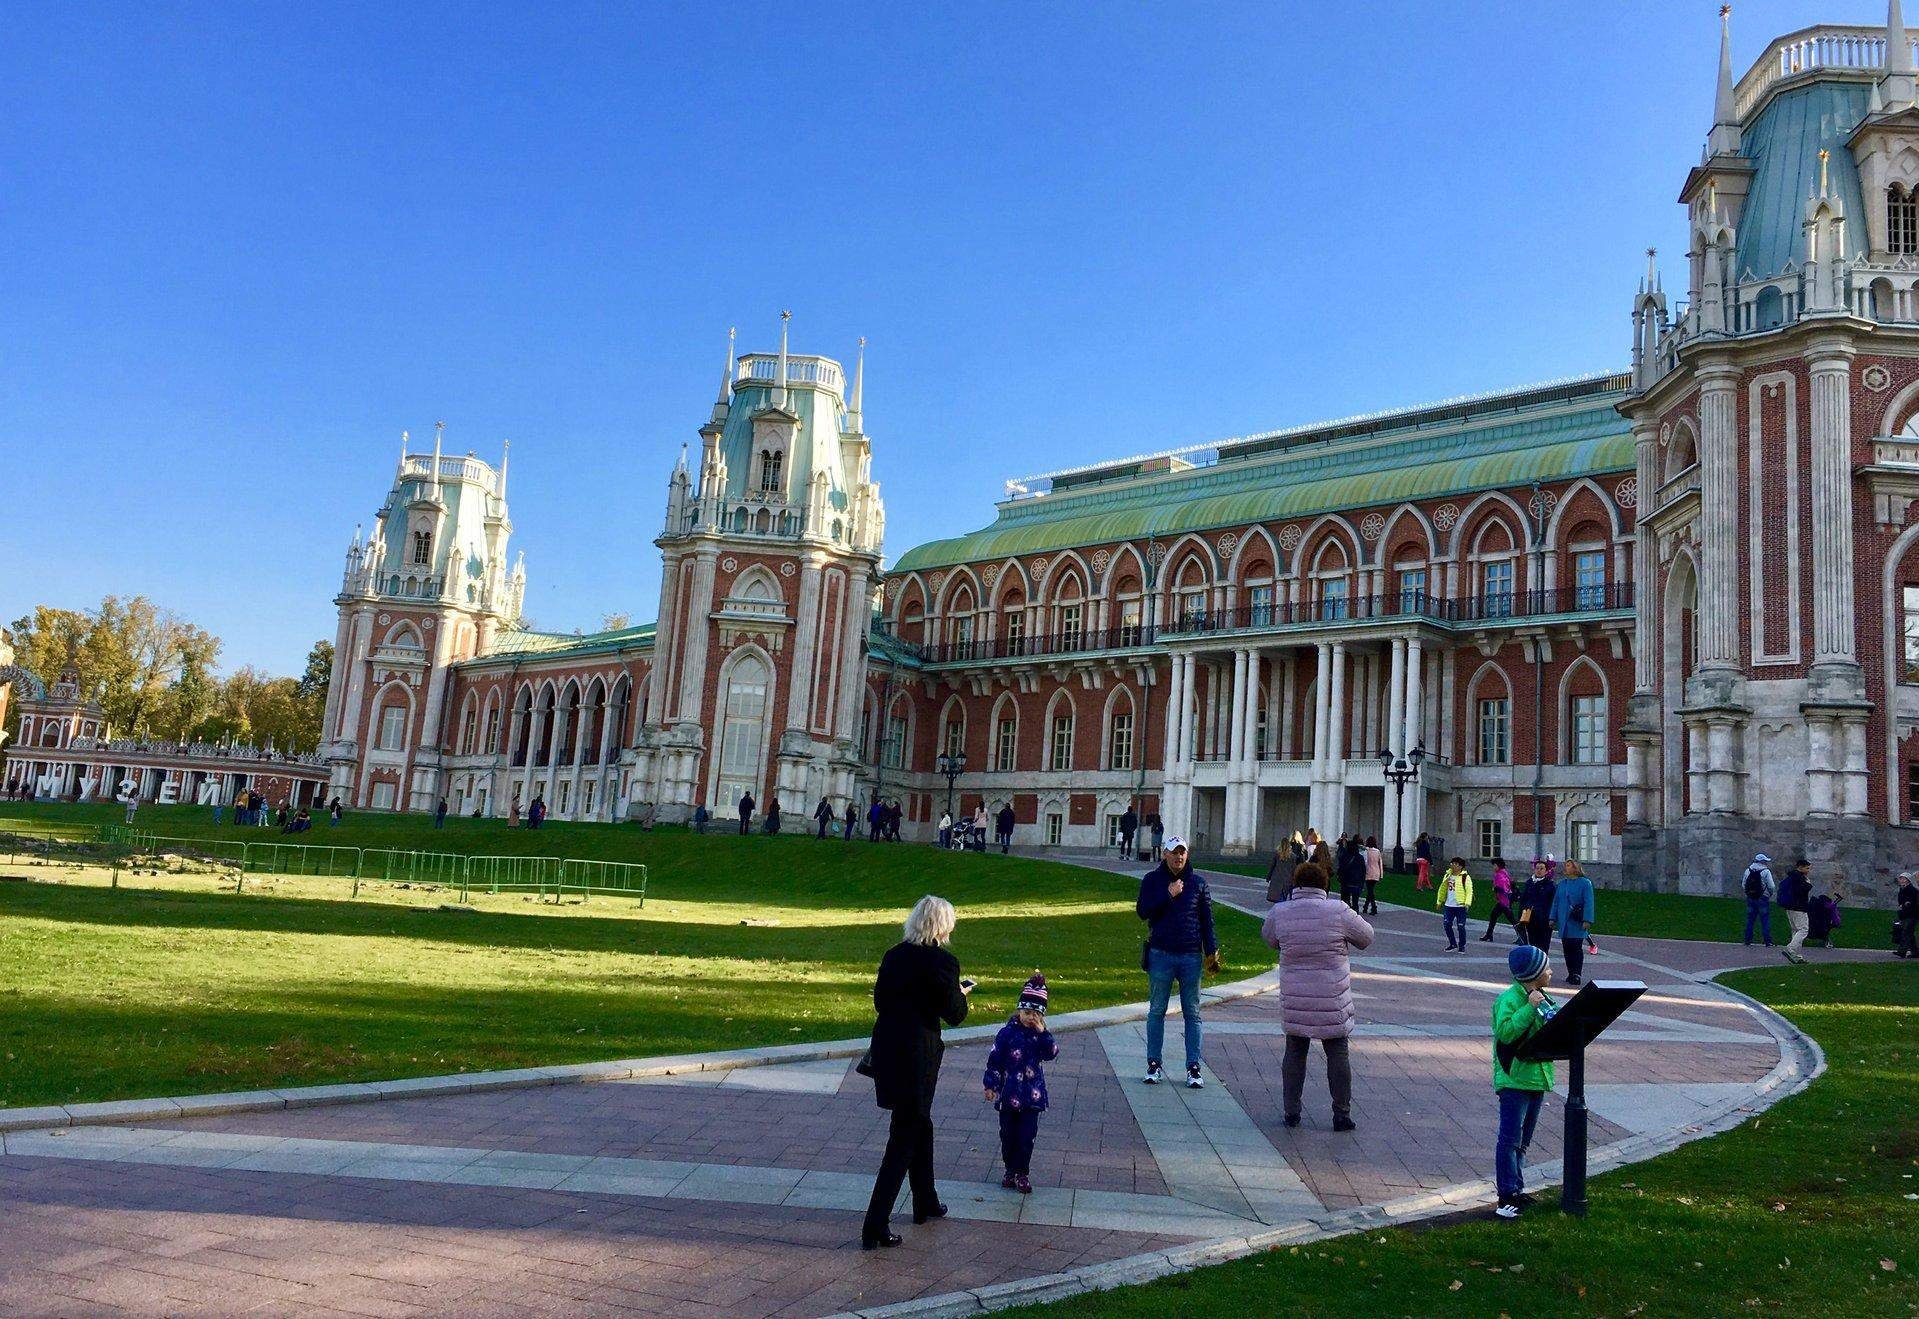
[[[940,1083],[940,1023],[965,1021],[969,983],[960,981],[960,958],[946,950],[954,933],[954,908],[946,899],[923,897],[906,918],[906,939],[887,948],[873,983],[873,1091],[881,1108],[892,1110],[887,1154],[873,1179],[860,1244],[898,1246],[887,1225],[900,1183],[913,1187],[913,1223],[944,1217],[933,1187],[933,1091]]]

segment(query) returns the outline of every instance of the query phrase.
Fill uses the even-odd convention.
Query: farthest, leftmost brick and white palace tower
[[[374,810],[430,810],[441,795],[449,666],[484,651],[520,616],[507,576],[507,463],[432,453],[401,434],[399,468],[347,547],[334,605],[334,672],[320,751],[328,795]]]

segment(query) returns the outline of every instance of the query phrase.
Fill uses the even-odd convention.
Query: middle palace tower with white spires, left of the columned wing
[[[668,482],[660,622],[647,691],[643,774],[662,816],[704,803],[731,814],[842,810],[879,570],[879,488],[860,388],[827,357],[794,353],[791,313],[773,353],[735,359],[700,426],[693,478]]]

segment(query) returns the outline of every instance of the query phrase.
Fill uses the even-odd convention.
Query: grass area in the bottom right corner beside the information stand
[[[1583,1223],[1541,1206],[1518,1223],[1374,1231],[1044,1313],[1919,1311],[1919,968],[1765,968],[1727,983],[1817,1039],[1829,1071],[1737,1131],[1595,1179]],[[1491,1165],[1491,1096],[1485,1117]]]

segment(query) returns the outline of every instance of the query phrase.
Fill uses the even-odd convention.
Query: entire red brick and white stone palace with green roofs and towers
[[[1009,801],[1050,845],[1132,804],[1211,852],[1428,831],[1702,891],[1756,849],[1909,862],[1919,106],[1892,10],[1739,81],[1721,31],[1685,301],[1648,261],[1627,371],[1009,482],[990,526],[888,566],[858,367],[783,324],[777,353],[729,344],[668,480],[658,622],[589,636],[516,626],[505,459],[403,451],[336,601],[330,793],[591,820],[877,793],[925,833],[954,768],[961,808]]]

